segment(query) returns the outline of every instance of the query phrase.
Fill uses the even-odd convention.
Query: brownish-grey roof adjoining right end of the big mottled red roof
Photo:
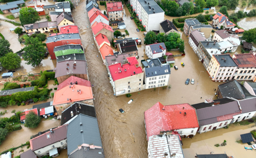
[[[218,116],[225,116],[228,114],[240,112],[239,104],[235,100],[233,100],[233,102],[227,102],[226,104],[210,105],[211,106],[196,109],[199,126],[218,122]],[[191,106],[194,107],[195,105]]]

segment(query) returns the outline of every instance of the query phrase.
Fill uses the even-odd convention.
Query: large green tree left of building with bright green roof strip
[[[32,66],[37,66],[44,59],[44,54],[46,50],[43,44],[38,40],[37,37],[26,37],[24,47],[23,58],[26,61],[26,64],[31,64]]]

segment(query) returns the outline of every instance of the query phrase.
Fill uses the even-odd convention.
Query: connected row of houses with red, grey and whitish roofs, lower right
[[[175,155],[184,158],[181,138],[192,138],[196,133],[227,127],[234,122],[250,119],[255,114],[256,97],[243,100],[206,99],[192,105],[164,106],[157,102],[144,112],[148,158]]]

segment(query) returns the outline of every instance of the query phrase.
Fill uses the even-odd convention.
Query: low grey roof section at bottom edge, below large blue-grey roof
[[[104,158],[104,151],[102,149],[87,149],[81,148],[69,156],[69,158]]]

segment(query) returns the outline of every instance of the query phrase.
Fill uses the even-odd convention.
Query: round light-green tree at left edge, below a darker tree
[[[1,65],[7,70],[13,70],[20,68],[21,59],[15,53],[9,52],[5,56],[0,58]]]

